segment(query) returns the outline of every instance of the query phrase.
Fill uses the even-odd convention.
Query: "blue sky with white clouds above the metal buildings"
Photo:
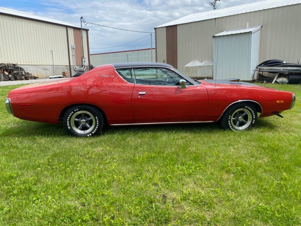
[[[154,27],[166,22],[192,13],[212,10],[210,1],[213,0],[0,0],[0,7],[25,11],[77,26],[80,26],[80,17],[84,17],[85,21],[90,23],[154,32]],[[220,0],[217,2],[217,8],[250,2],[256,0]],[[91,54],[151,48],[149,33],[116,30],[92,24],[83,26],[89,29]],[[153,48],[154,43],[153,36]]]

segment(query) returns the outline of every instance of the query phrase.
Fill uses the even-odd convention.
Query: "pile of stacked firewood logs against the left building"
[[[26,72],[18,64],[0,63],[0,81],[5,80],[28,80],[37,79],[38,77]]]

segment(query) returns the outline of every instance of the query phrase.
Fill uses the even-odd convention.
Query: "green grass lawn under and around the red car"
[[[8,114],[0,86],[0,225],[300,225],[300,85],[292,110],[245,132],[218,123],[109,127]]]

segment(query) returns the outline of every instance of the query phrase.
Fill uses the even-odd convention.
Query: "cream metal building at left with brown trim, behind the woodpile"
[[[0,63],[17,63],[40,78],[88,71],[88,29],[82,51],[80,27],[63,21],[0,8],[0,27]]]

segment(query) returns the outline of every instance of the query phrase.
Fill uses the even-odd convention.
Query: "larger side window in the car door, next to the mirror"
[[[179,86],[181,76],[166,68],[134,68],[136,84],[153,86]],[[186,81],[186,85],[191,85]]]

